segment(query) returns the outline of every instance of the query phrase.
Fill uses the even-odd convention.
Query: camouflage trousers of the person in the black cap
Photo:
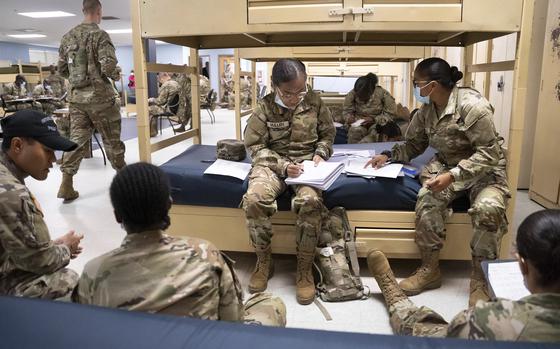
[[[67,268],[45,275],[22,272],[14,279],[6,278],[0,281],[0,294],[29,298],[70,299],[78,278],[75,271]]]

